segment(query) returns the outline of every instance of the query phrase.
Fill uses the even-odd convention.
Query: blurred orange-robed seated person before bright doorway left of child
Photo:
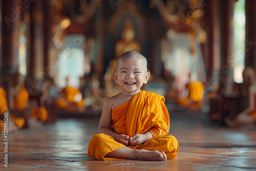
[[[66,111],[84,112],[86,108],[84,107],[84,99],[80,90],[70,86],[70,77],[67,77],[67,87],[62,90],[60,97],[56,101],[56,106],[59,109]]]

